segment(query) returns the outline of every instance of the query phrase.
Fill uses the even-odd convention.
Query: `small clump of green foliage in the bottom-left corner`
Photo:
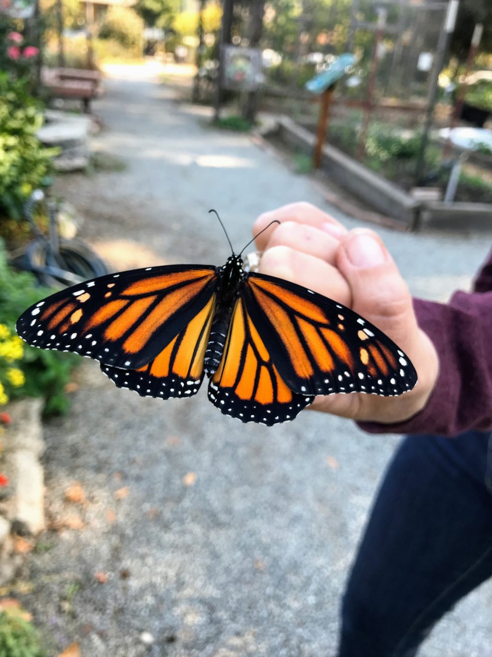
[[[20,610],[0,612],[0,657],[46,657],[39,634]]]

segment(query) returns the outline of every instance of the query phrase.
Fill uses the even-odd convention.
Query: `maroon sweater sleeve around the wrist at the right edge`
[[[440,434],[492,430],[492,252],[473,292],[448,304],[414,299],[419,326],[439,355],[440,373],[426,407],[406,422],[359,422],[374,434]]]

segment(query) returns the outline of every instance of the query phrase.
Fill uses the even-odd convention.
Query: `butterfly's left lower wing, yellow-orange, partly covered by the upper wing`
[[[203,359],[215,311],[215,296],[147,365],[136,370],[101,363],[101,369],[117,388],[138,392],[141,397],[191,397],[203,380]]]

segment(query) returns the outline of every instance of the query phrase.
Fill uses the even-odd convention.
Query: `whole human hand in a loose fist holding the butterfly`
[[[416,415],[436,384],[439,359],[419,328],[412,299],[398,267],[374,231],[347,231],[310,203],[265,212],[255,221],[262,252],[259,271],[315,290],[354,310],[391,338],[411,359],[419,380],[398,397],[360,393],[316,397],[310,408],[353,420],[392,424]]]

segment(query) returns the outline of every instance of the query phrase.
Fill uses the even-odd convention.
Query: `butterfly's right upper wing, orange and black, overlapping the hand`
[[[281,378],[302,394],[411,390],[417,373],[379,328],[321,294],[251,273],[243,296],[249,317]]]

